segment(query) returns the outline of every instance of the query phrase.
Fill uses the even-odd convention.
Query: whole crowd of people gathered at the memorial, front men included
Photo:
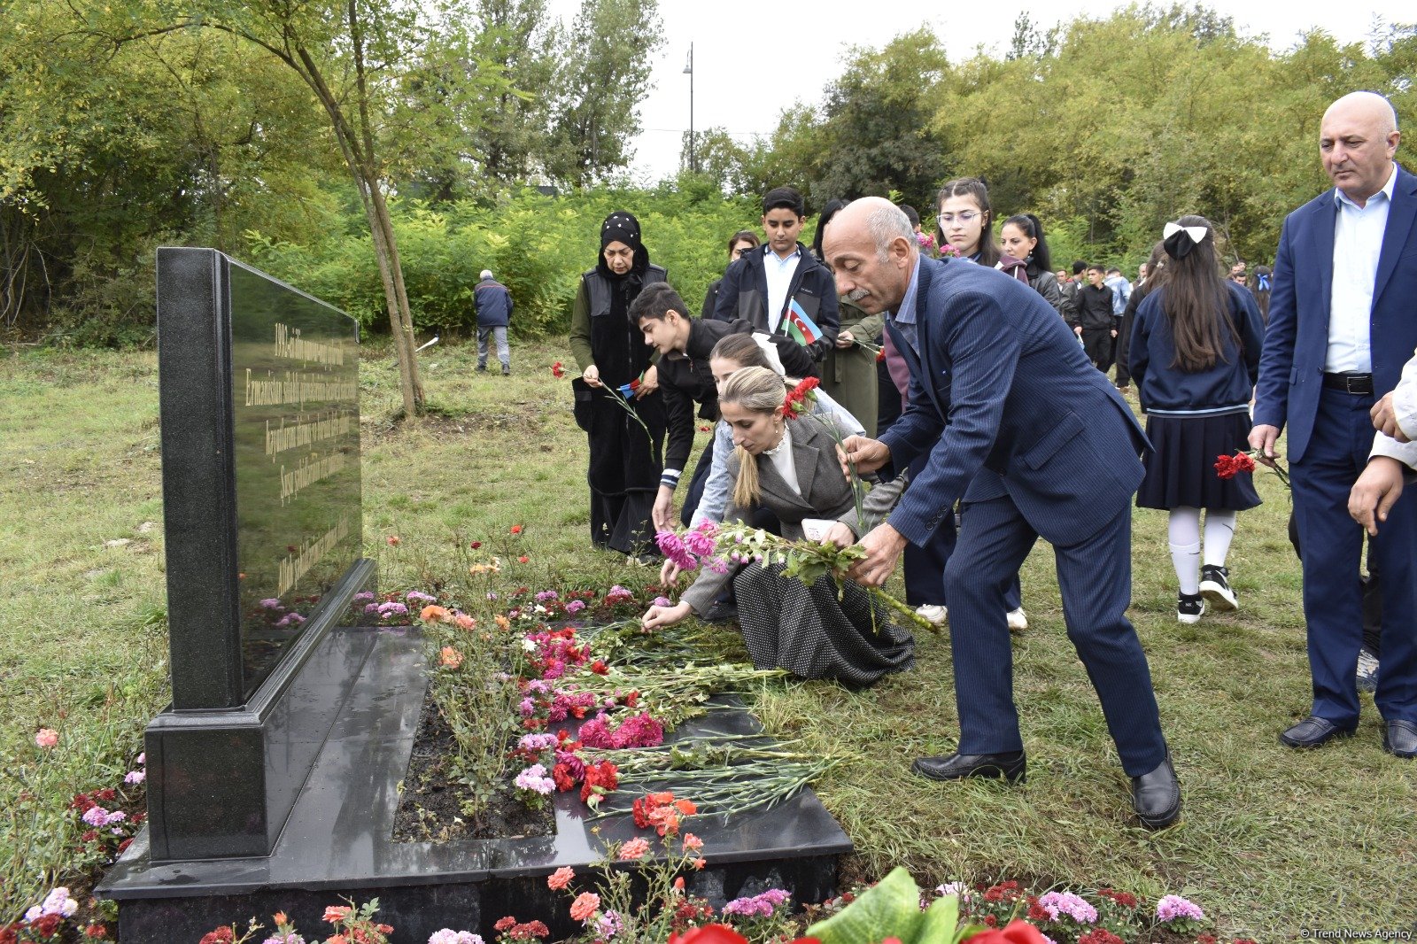
[[[1125,617],[1129,503],[1168,512],[1178,621],[1238,608],[1227,554],[1260,496],[1253,462],[1227,475],[1216,463],[1251,448],[1274,462],[1288,422],[1315,697],[1281,741],[1352,733],[1360,656],[1380,641],[1369,682],[1383,744],[1411,758],[1417,634],[1403,621],[1362,635],[1353,523],[1369,533],[1383,612],[1417,608],[1417,510],[1397,500],[1417,455],[1390,393],[1417,350],[1417,191],[1393,160],[1399,137],[1382,96],[1335,102],[1321,132],[1335,190],[1289,217],[1274,266],[1253,274],[1223,261],[1210,220],[1185,213],[1135,281],[1102,262],[1056,268],[1039,217],[1023,208],[1000,224],[978,177],[945,183],[928,227],[913,207],[833,200],[808,245],[803,198],[782,186],[764,194],[761,240],[731,234],[723,278],[691,305],[649,262],[638,221],[612,214],[571,329],[591,539],[653,560],[677,499],[691,526],[745,520],[796,539],[825,519],[826,540],[866,549],[853,575],[867,585],[903,557],[910,605],[951,628],[961,747],[917,761],[935,780],[1023,775],[1007,634],[1027,628],[1023,557],[1049,540],[1138,816],[1161,826],[1180,792]],[[1417,386],[1417,367],[1407,373]],[[819,383],[815,412],[788,424],[785,393],[803,378]],[[1145,432],[1124,398],[1134,388]],[[700,420],[717,424],[713,444],[682,488]],[[866,512],[837,449],[840,471],[880,472]],[[913,663],[910,634],[870,631],[888,614],[854,590],[784,591],[775,571],[748,573],[700,575],[677,604],[650,608],[646,628],[737,618],[760,666],[857,685]]]

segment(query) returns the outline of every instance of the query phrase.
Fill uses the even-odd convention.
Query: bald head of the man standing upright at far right
[[[1397,153],[1397,112],[1377,92],[1349,92],[1319,126],[1319,156],[1333,186],[1359,206],[1383,189]]]

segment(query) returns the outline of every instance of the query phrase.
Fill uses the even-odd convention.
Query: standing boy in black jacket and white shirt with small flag
[[[806,221],[802,194],[794,187],[774,187],[762,197],[762,231],[767,244],[748,249],[728,266],[718,283],[714,319],[744,319],[754,329],[789,336],[788,310],[796,302],[819,329],[808,344],[812,360],[822,360],[836,343],[842,318],[836,303],[836,276],[798,242]]]

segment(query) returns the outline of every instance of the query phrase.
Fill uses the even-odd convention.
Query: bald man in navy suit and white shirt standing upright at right
[[[1272,463],[1288,424],[1314,680],[1309,716],[1280,734],[1297,748],[1357,729],[1362,529],[1349,519],[1349,493],[1401,458],[1391,439],[1374,441],[1369,410],[1397,386],[1417,347],[1417,179],[1393,160],[1399,140],[1397,115],[1382,95],[1333,102],[1319,126],[1333,189],[1288,215],[1274,264],[1250,445]],[[1399,499],[1372,541],[1383,612],[1396,615],[1383,619],[1374,693],[1383,747],[1413,758],[1417,502]]]

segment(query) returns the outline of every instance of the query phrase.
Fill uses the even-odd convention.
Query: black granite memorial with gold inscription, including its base
[[[397,941],[504,914],[570,934],[546,884],[581,872],[629,815],[557,794],[554,836],[395,842],[427,692],[417,629],[347,625],[360,556],[359,357],[351,319],[213,249],[157,258],[173,703],[146,736],[149,819],[96,889],[125,944],[196,941],[285,910],[309,935],[343,899],[380,899]],[[743,710],[682,727],[752,733]],[[721,906],[768,887],[819,901],[852,845],[811,790],[696,819]]]

